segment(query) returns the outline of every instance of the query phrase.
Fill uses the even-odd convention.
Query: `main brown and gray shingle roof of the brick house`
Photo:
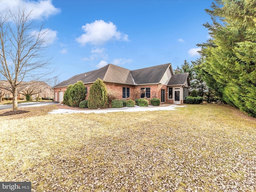
[[[60,82],[53,88],[65,87],[81,80],[84,84],[93,83],[98,78],[104,82],[113,82],[120,84],[154,84],[159,83],[165,72],[170,68],[171,64],[163,64],[142,68],[138,70],[128,70],[113,64],[108,64],[100,69],[89,71],[86,73],[75,75],[68,80]],[[175,76],[171,70],[172,76]],[[183,78],[183,76],[181,76]],[[172,79],[172,78],[171,78]],[[177,80],[178,81],[178,80]],[[170,82],[169,82],[170,83]]]

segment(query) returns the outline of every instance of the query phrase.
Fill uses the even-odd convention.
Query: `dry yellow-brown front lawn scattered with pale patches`
[[[46,114],[54,108],[0,116],[0,181],[37,192],[256,190],[256,120],[235,108]]]

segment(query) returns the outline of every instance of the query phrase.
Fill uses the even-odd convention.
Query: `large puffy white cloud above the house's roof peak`
[[[110,40],[129,41],[128,35],[117,31],[116,25],[112,22],[95,20],[82,26],[82,29],[85,33],[76,38],[76,41],[82,46],[87,43],[101,45]]]

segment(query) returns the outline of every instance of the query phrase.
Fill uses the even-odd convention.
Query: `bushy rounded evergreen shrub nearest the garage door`
[[[68,92],[69,104],[78,107],[80,102],[86,98],[86,89],[82,81],[76,82]]]

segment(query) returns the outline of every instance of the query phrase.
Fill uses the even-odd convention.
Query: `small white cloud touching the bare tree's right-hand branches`
[[[41,40],[44,41],[44,44],[52,44],[57,39],[57,31],[49,28],[42,29],[41,32],[34,30],[31,32],[31,35],[35,37],[39,35]]]

